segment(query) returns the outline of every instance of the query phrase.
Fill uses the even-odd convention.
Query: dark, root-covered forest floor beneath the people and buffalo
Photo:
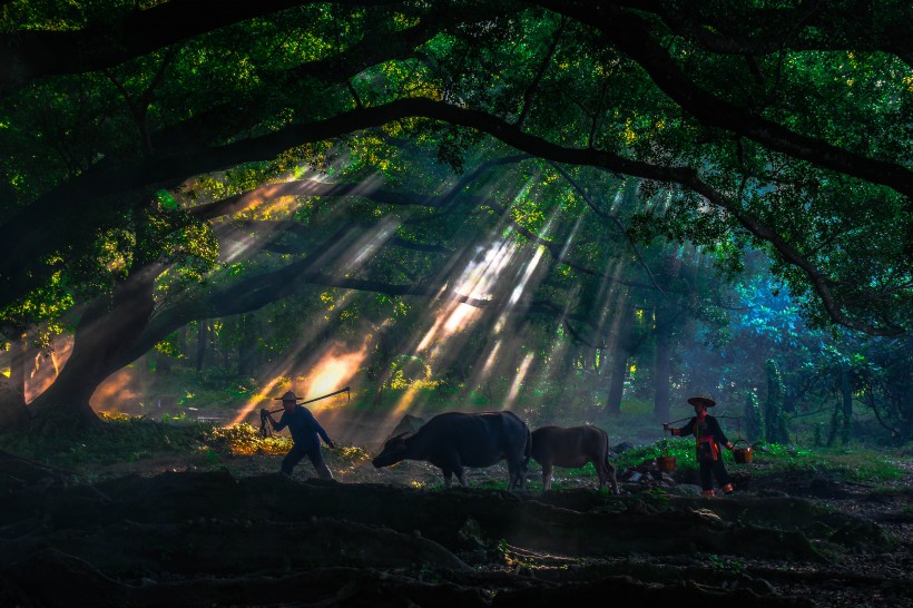
[[[619,470],[618,497],[562,469],[543,493],[534,462],[527,491],[498,489],[503,465],[444,490],[366,447],[325,450],[332,482],[307,461],[276,474],[281,454],[68,472],[0,452],[0,605],[913,606],[910,459],[871,482],[730,461],[737,491],[705,499],[694,471],[649,460]]]

